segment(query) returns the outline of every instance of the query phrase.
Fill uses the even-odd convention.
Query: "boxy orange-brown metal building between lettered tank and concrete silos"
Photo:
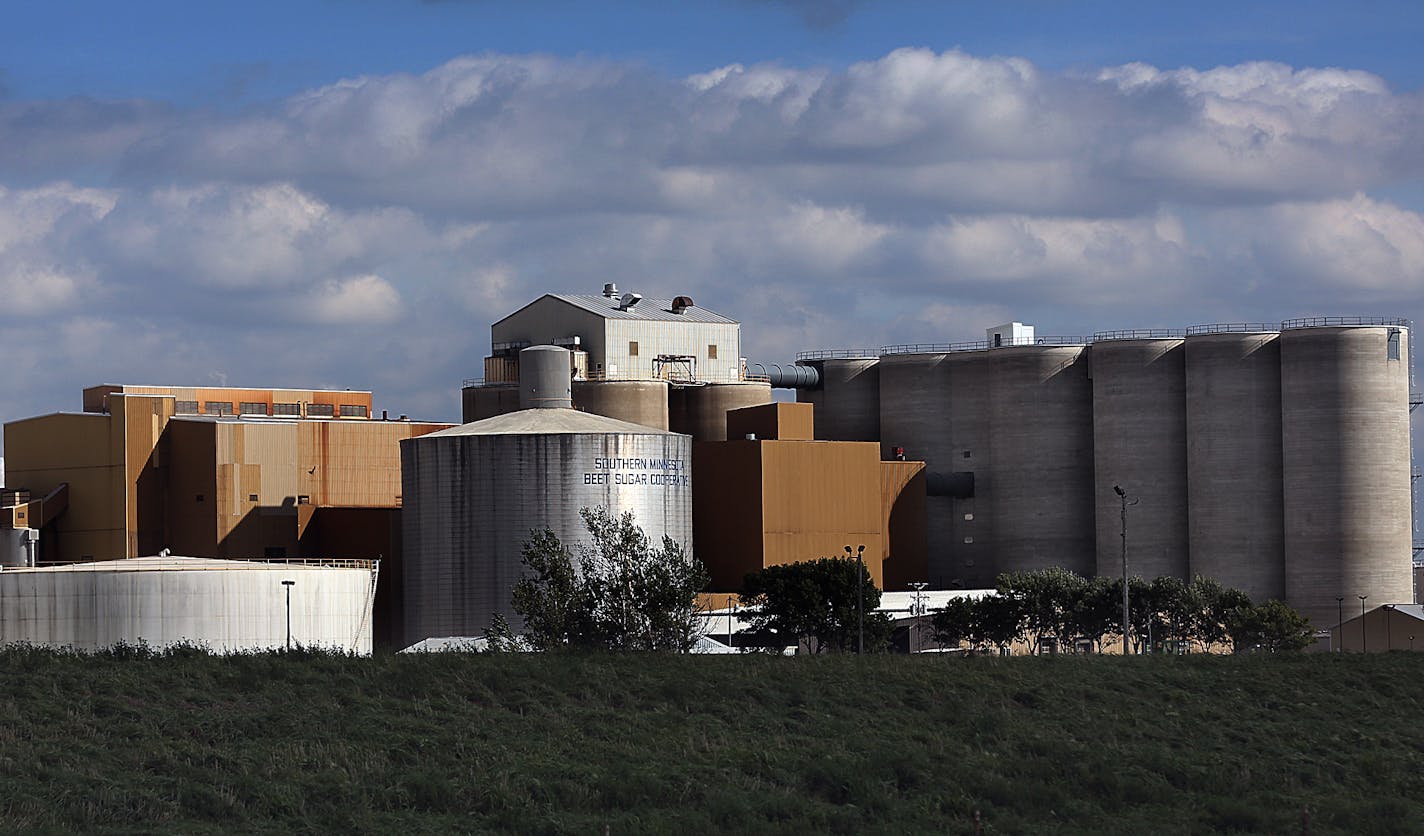
[[[692,449],[693,543],[712,592],[768,565],[864,545],[876,585],[926,580],[924,463],[880,461],[873,441],[813,440],[813,406],[728,413],[728,441]]]

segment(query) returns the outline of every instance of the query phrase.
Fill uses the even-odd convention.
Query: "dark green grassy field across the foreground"
[[[0,652],[0,827],[1424,832],[1424,654]]]

